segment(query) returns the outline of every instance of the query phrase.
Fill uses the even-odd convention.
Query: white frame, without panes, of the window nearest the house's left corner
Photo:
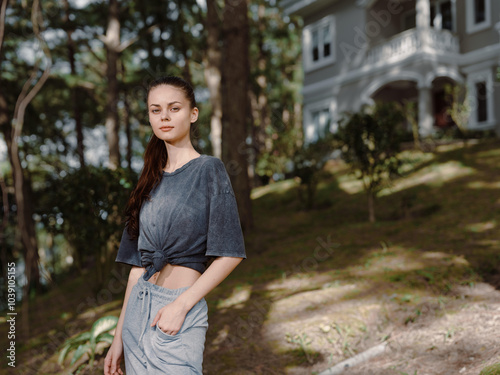
[[[330,56],[323,57],[320,55],[318,61],[313,60],[312,56],[312,35],[316,30],[321,30],[323,27],[330,25]],[[320,33],[321,35],[321,33]],[[321,43],[320,43],[321,45]],[[333,64],[336,61],[336,51],[337,42],[336,42],[336,31],[335,31],[335,17],[333,15],[326,16],[315,22],[311,25],[308,25],[304,28],[303,38],[302,38],[302,51],[304,56],[304,70],[306,72],[310,72],[312,70],[316,70],[327,65]]]

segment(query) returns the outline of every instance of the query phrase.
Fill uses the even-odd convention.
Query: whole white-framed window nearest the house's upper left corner
[[[335,62],[335,19],[328,16],[304,28],[304,65],[306,71]]]

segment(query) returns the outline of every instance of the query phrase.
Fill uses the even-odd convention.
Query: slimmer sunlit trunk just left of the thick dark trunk
[[[205,81],[210,92],[212,116],[210,119],[210,140],[212,153],[222,158],[222,97],[221,97],[221,50],[219,46],[221,23],[217,8],[217,0],[207,0],[207,54],[205,57]]]

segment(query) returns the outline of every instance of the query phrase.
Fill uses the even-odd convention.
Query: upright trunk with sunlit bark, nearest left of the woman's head
[[[104,44],[106,46],[106,134],[109,146],[109,168],[116,169],[120,166],[120,135],[118,117],[118,79],[117,64],[120,47],[120,20],[118,0],[109,0],[108,28]]]

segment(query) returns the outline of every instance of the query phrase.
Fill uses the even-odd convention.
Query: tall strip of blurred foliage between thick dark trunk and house
[[[249,5],[250,101],[256,173],[279,180],[302,147],[301,25],[269,0]]]

